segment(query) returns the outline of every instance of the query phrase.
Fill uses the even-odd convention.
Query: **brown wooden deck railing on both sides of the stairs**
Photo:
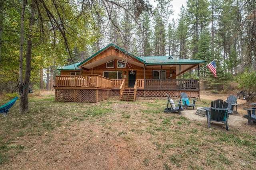
[[[56,76],[56,87],[104,87],[120,88],[123,80],[111,80],[100,75]],[[199,80],[194,79],[137,79],[138,89],[199,89]]]

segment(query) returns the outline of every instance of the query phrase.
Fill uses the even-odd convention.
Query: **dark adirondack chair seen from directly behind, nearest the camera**
[[[210,111],[208,113],[208,127],[210,128],[211,121],[222,122],[226,124],[226,130],[228,127],[228,103],[218,99],[211,102]]]

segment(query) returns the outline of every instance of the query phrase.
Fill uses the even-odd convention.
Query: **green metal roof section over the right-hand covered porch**
[[[166,64],[200,64],[206,63],[203,60],[176,59],[172,56],[149,56],[139,57],[145,61],[146,65],[166,65]]]

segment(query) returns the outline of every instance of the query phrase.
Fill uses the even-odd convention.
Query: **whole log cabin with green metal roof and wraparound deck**
[[[82,63],[64,66],[56,76],[55,100],[99,102],[110,96],[135,101],[136,96],[200,98],[199,74],[184,79],[184,74],[206,61],[176,59],[172,56],[136,57],[110,44]],[[183,78],[182,78],[183,76]]]

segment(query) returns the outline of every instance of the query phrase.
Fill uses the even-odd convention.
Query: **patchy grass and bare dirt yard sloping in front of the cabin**
[[[28,114],[20,115],[16,102],[0,117],[0,168],[256,168],[255,126],[209,129],[165,107],[165,98],[76,103],[31,96]]]

